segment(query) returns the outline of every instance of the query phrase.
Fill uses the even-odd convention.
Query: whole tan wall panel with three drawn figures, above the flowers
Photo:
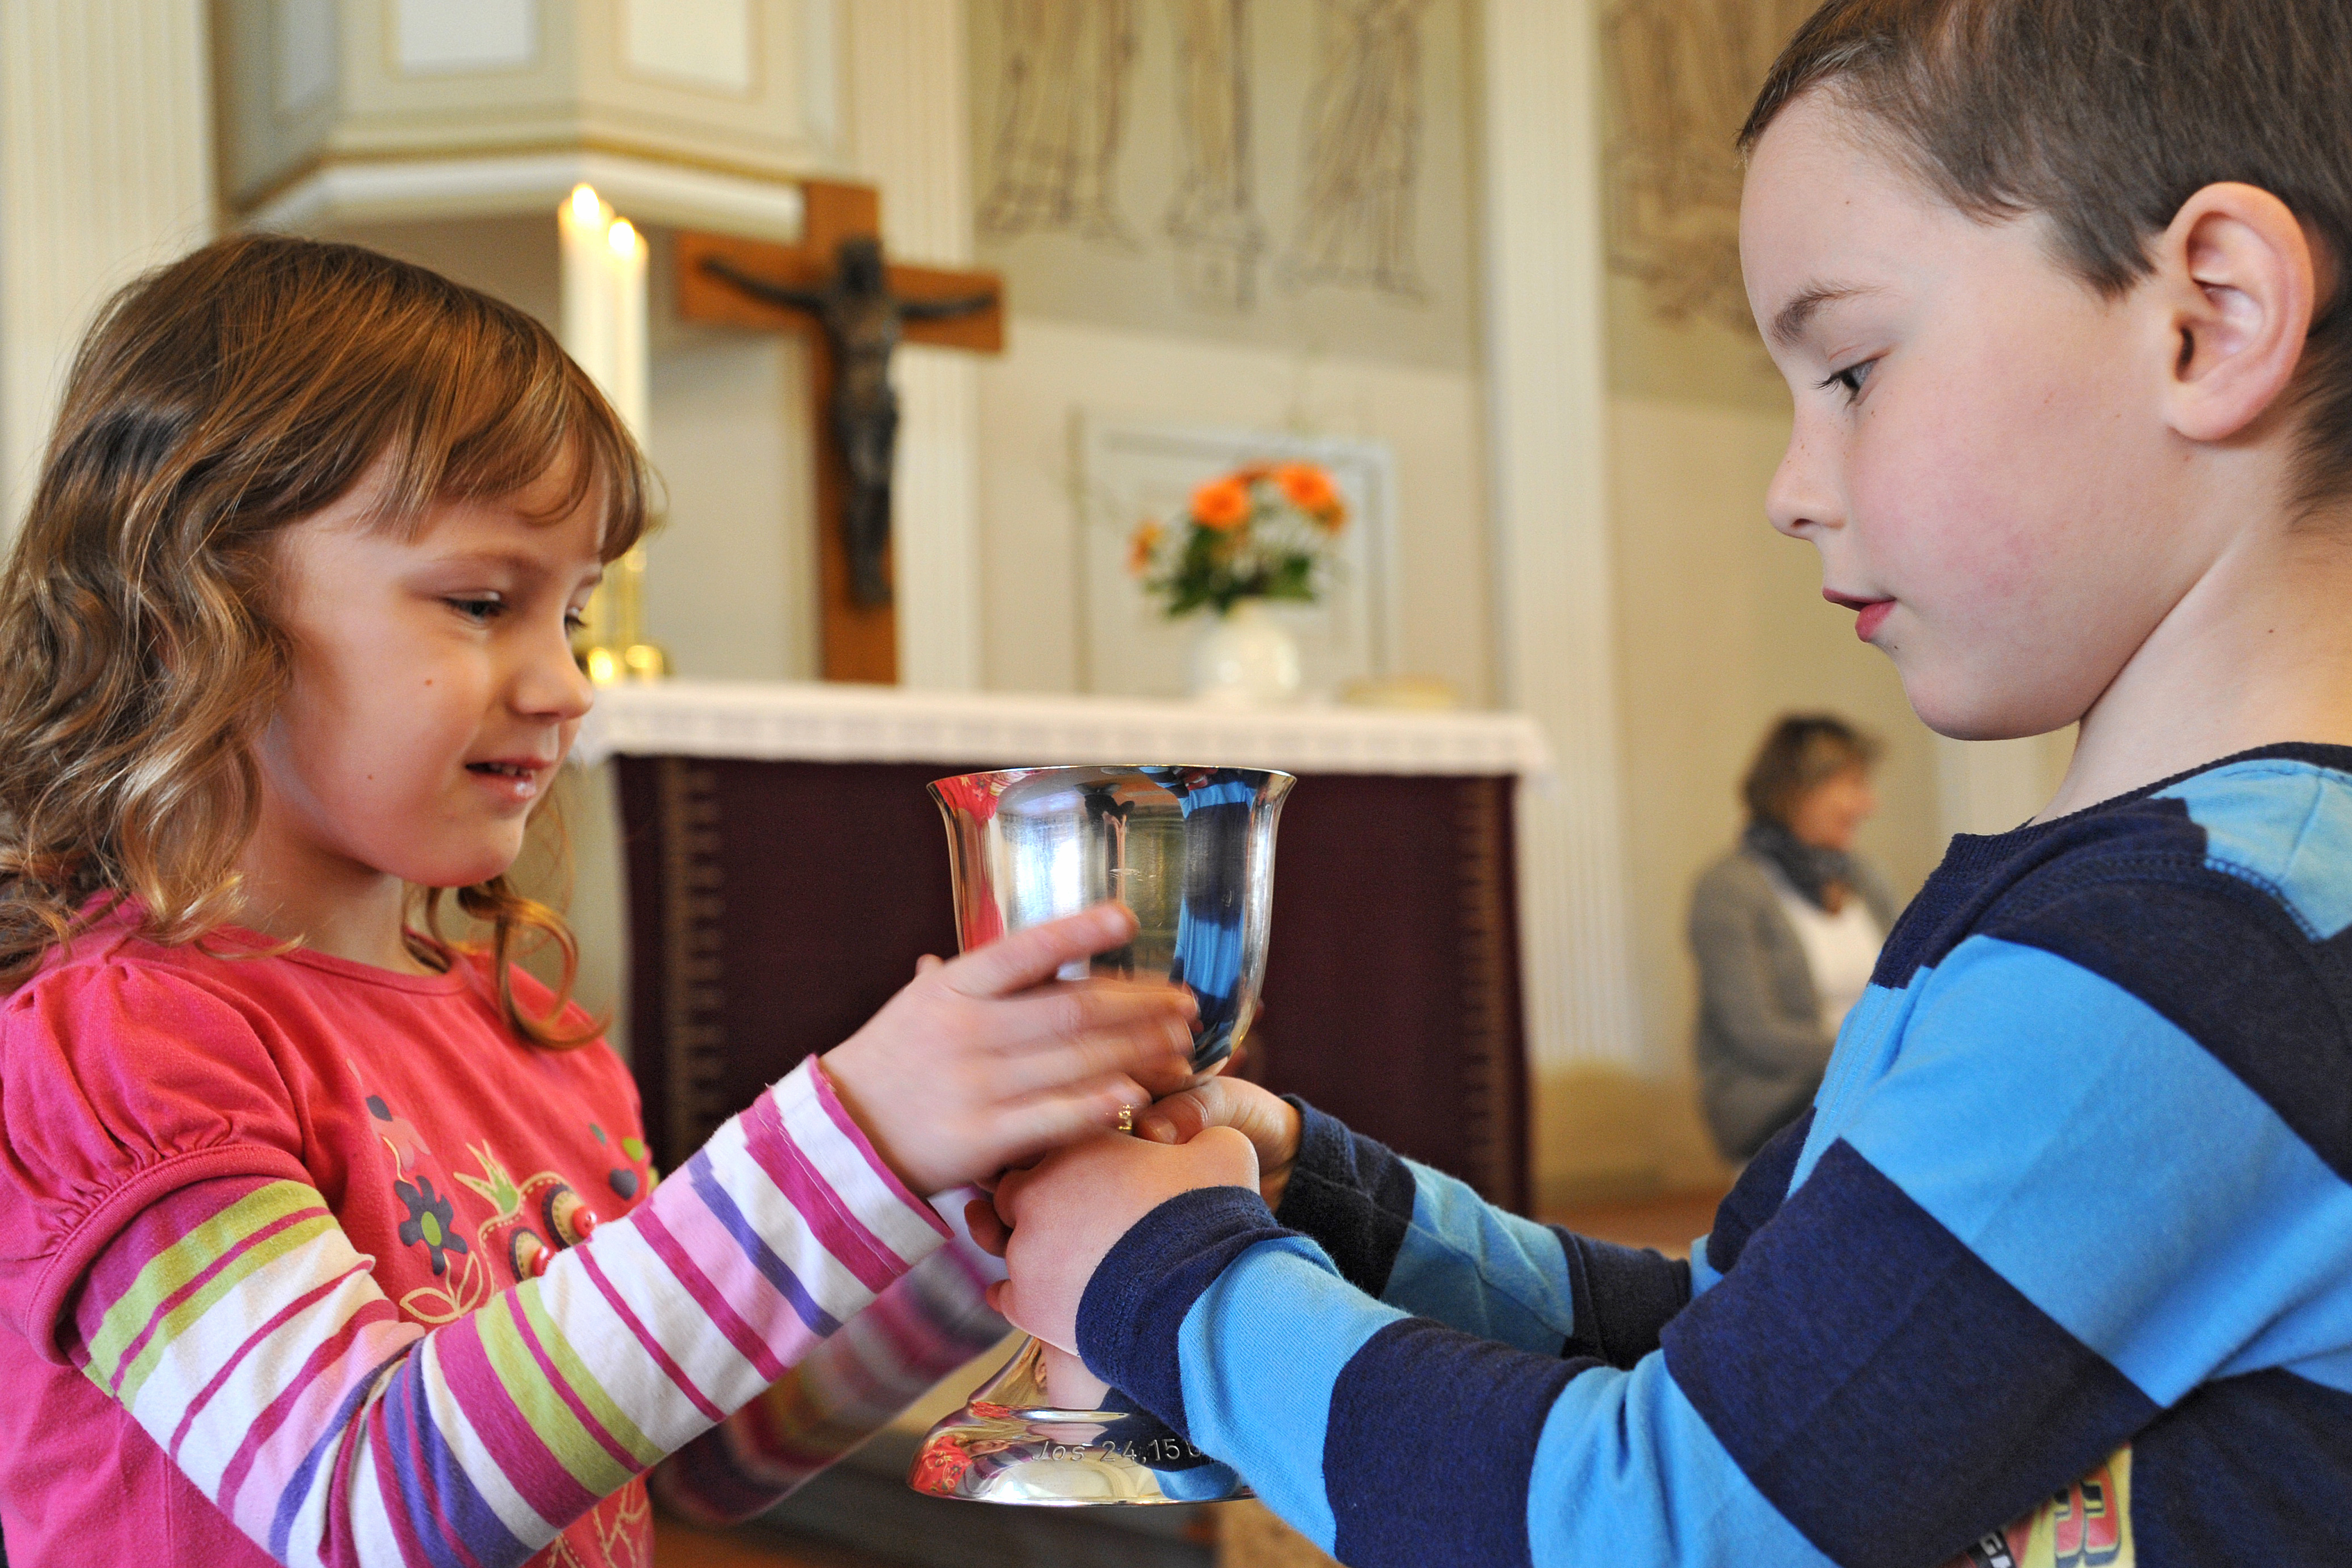
[[[1477,362],[1477,0],[967,0],[1023,315]]]

